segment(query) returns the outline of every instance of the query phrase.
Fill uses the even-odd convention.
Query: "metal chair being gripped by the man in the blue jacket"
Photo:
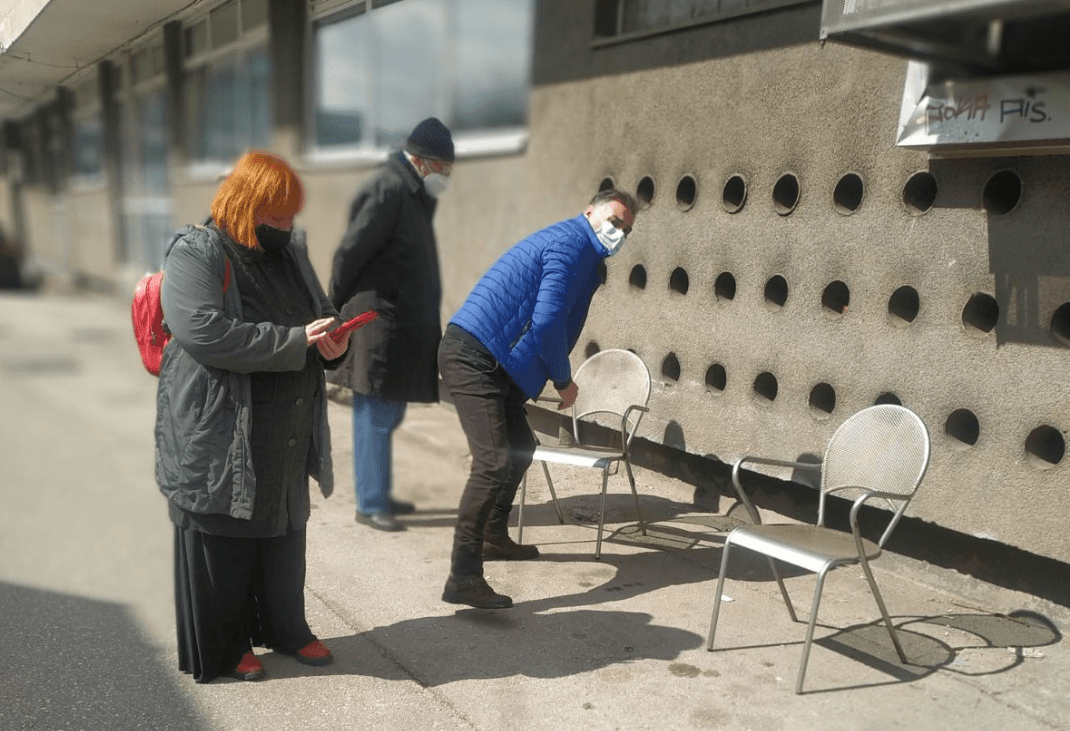
[[[550,488],[550,497],[561,523],[565,522],[565,517],[561,512],[557,493],[553,489],[553,481],[550,478],[550,469],[547,463],[556,462],[601,470],[601,512],[598,516],[598,539],[595,544],[595,559],[600,559],[602,528],[606,522],[606,488],[609,484],[610,469],[621,462],[624,463],[628,482],[631,485],[631,494],[636,500],[639,528],[643,535],[646,535],[646,526],[639,508],[636,478],[631,474],[628,447],[636,429],[639,428],[639,422],[643,414],[648,411],[646,403],[651,397],[651,372],[646,368],[646,364],[643,363],[643,359],[629,350],[602,350],[584,361],[576,370],[572,380],[579,386],[579,395],[572,405],[572,438],[576,443],[554,446],[539,444],[535,448],[533,463],[538,461],[542,465],[546,484]],[[621,445],[606,447],[585,444],[582,425],[609,417],[613,417],[614,427],[620,425]],[[520,513],[517,518],[519,528],[517,539],[520,542],[523,540],[524,535],[526,497],[528,475],[525,474],[520,487]]]

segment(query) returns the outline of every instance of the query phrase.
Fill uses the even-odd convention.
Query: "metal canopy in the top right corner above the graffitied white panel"
[[[823,0],[822,40],[976,74],[1070,68],[1070,0]]]

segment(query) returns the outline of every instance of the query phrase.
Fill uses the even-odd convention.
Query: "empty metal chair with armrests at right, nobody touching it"
[[[758,511],[754,509],[739,483],[740,469],[747,462],[821,470],[817,523],[763,526]],[[832,435],[825,450],[824,459],[819,465],[758,457],[743,457],[737,460],[732,469],[732,485],[754,524],[736,528],[724,542],[706,650],[714,649],[714,633],[717,629],[730,549],[732,546],[742,546],[766,557],[793,622],[798,622],[798,618],[777,570],[776,561],[783,561],[817,575],[810,606],[810,622],[795,681],[796,694],[802,692],[802,679],[806,676],[807,660],[810,657],[810,644],[813,641],[825,576],[838,566],[861,565],[899,659],[906,664],[906,655],[873,579],[870,563],[881,555],[881,549],[917,491],[928,467],[929,430],[924,423],[908,409],[890,405],[870,407],[841,424]],[[826,498],[834,493],[854,498],[851,508],[851,533],[832,530],[824,524]],[[876,543],[862,538],[858,526],[858,512],[870,500],[880,500],[891,511],[887,526]]]

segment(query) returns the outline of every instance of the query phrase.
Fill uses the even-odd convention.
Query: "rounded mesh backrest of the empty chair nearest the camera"
[[[895,405],[872,406],[851,416],[825,447],[821,471],[821,507],[825,496],[840,487],[860,487],[902,496],[886,501],[893,516],[881,545],[891,534],[929,468],[929,429],[910,409]],[[851,497],[850,491],[839,492]]]

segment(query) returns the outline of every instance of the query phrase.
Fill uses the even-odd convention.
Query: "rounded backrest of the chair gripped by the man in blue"
[[[621,428],[620,417],[630,406],[645,407],[651,398],[651,371],[643,359],[630,350],[600,350],[577,368],[572,380],[580,392],[572,405],[572,433],[577,439],[581,418],[594,414],[615,414],[617,420],[607,426]],[[628,416],[631,435],[643,414],[632,411]]]

